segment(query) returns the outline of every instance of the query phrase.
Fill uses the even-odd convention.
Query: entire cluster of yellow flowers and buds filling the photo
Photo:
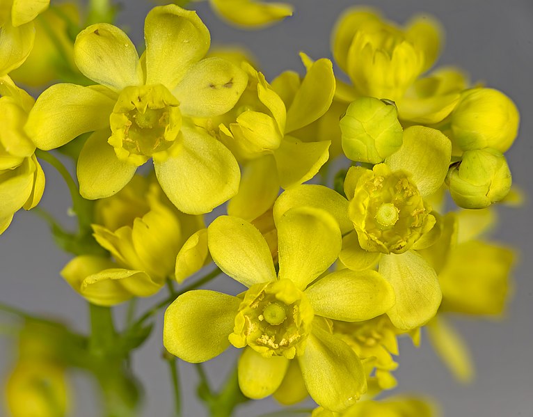
[[[504,310],[514,252],[481,236],[494,223],[489,206],[511,189],[503,154],[519,116],[507,95],[469,84],[461,70],[431,70],[443,43],[436,21],[415,17],[402,28],[375,10],[348,10],[332,52],[349,83],[328,58],[303,53],[305,74],[269,82],[246,54],[209,52],[205,24],[175,4],[148,13],[139,49],[109,22],[88,20],[70,38],[79,14],[58,6],[35,26],[61,23],[47,31],[48,47],[64,45],[61,65],[50,61],[42,82],[67,82],[33,100],[8,74],[24,82],[27,67],[11,72],[28,56],[40,61],[30,54],[32,21],[47,3],[2,1],[0,233],[39,203],[45,177],[35,152],[66,177],[52,151],[73,157],[79,230],[51,223],[76,255],[61,275],[100,312],[95,323],[106,308],[168,285],[169,361],[241,349],[246,398],[295,404],[309,395],[316,417],[433,415],[415,398],[374,400],[397,385],[397,338],[419,345],[424,327],[459,379],[472,377],[446,315]],[[280,3],[210,3],[239,26],[292,14]],[[460,208],[447,209],[448,190]],[[240,290],[196,289],[200,281],[176,292],[174,283],[212,262]],[[101,376],[112,363],[126,366],[159,307],[124,333],[111,327],[101,349],[88,343],[85,368]],[[39,367],[53,378],[54,416],[63,415],[65,365],[51,356]],[[41,369],[24,366],[8,388],[14,415],[19,380]],[[205,398],[221,416],[239,402],[237,393]]]

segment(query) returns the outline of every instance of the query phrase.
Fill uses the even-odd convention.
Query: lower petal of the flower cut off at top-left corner
[[[0,30],[0,75],[3,75],[26,61],[33,48],[35,29],[32,22],[17,27],[6,22]]]

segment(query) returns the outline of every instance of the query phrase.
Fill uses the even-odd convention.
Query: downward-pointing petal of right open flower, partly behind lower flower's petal
[[[379,273],[395,290],[396,304],[387,315],[398,329],[415,329],[435,317],[443,294],[435,270],[421,255],[383,255]]]

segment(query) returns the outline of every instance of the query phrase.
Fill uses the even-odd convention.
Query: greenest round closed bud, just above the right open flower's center
[[[342,150],[352,161],[379,164],[396,152],[403,129],[397,109],[374,97],[358,97],[340,120]]]

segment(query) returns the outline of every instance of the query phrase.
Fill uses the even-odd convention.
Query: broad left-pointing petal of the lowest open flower
[[[221,292],[186,292],[168,306],[163,344],[184,361],[200,363],[221,354],[229,345],[240,299]]]

